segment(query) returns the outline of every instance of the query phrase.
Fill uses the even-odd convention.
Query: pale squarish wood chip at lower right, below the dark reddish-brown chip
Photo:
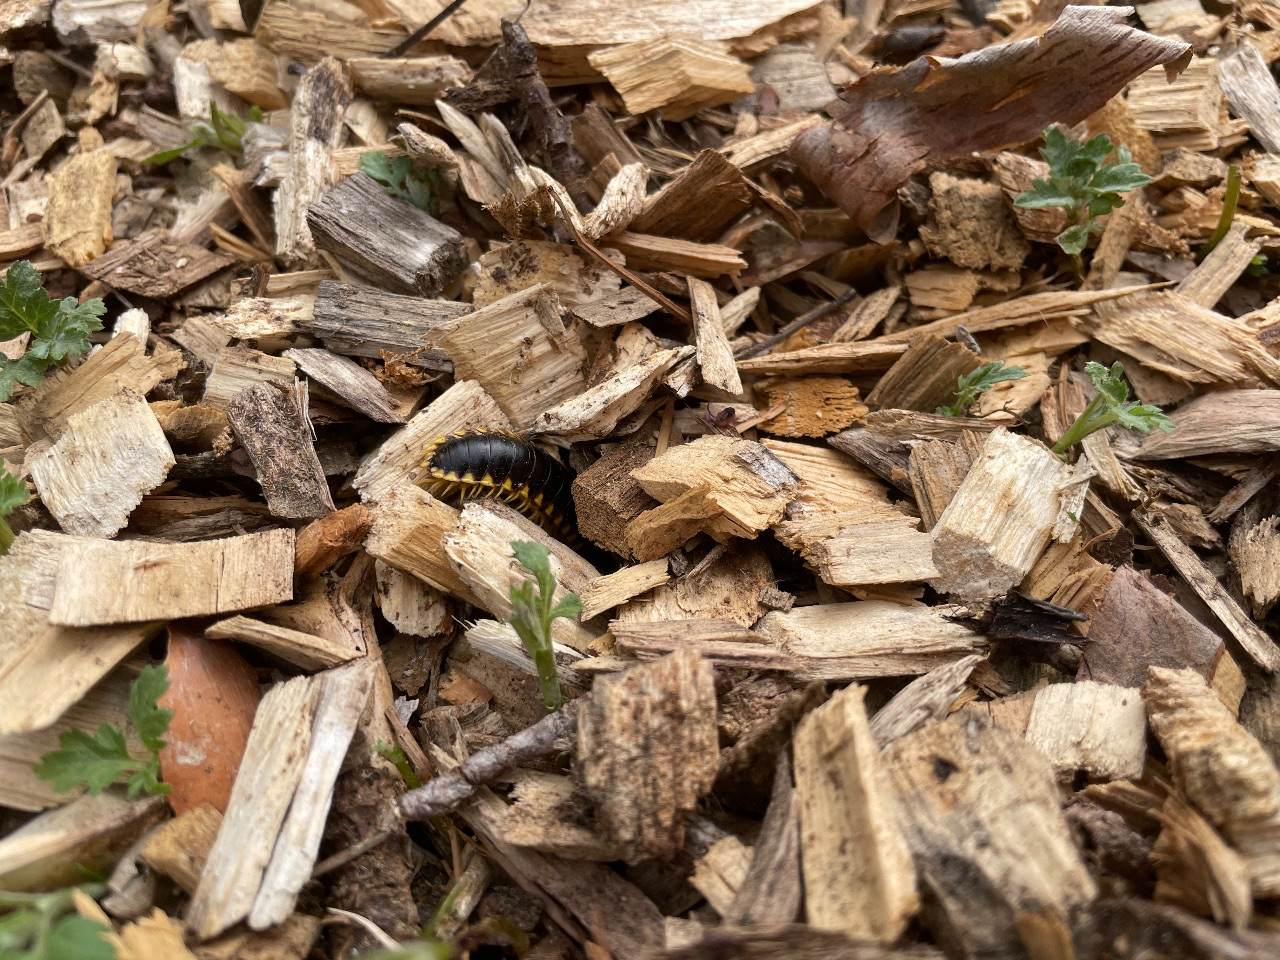
[[[1147,713],[1137,687],[1078,680],[1036,694],[1027,741],[1059,777],[1137,780],[1147,759]]]

